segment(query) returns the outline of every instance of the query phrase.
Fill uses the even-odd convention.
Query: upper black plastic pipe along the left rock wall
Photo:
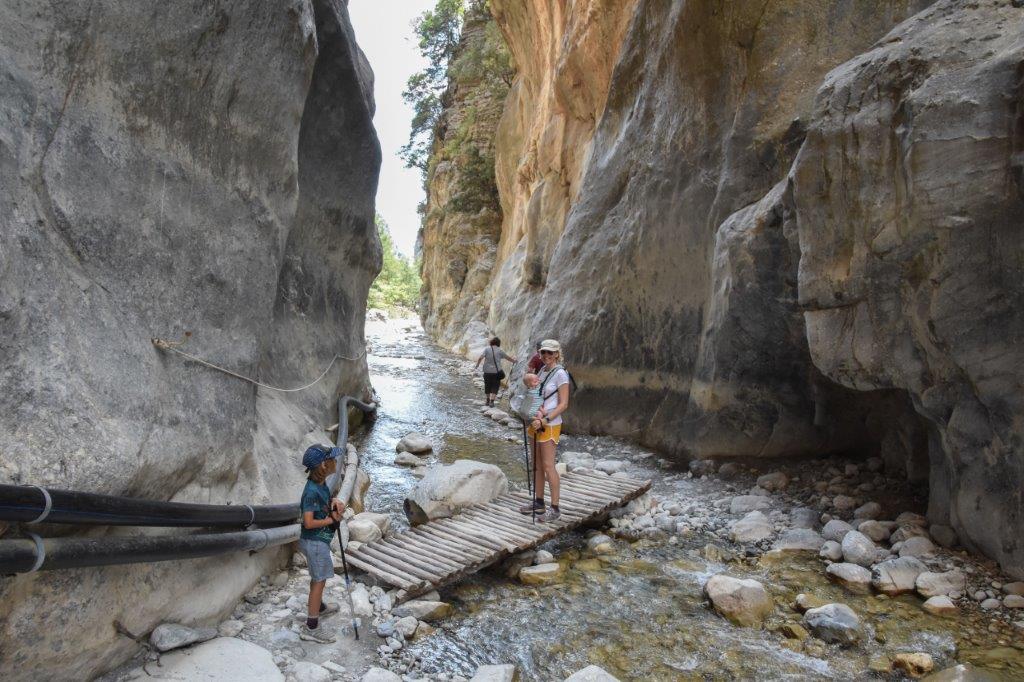
[[[373,413],[376,403],[350,396],[338,400],[338,442],[348,442],[348,406]],[[343,445],[344,446],[344,445]],[[339,474],[341,471],[339,470]],[[49,502],[47,502],[47,497]],[[114,495],[0,484],[0,521],[168,527],[281,525],[299,517],[299,505],[199,505]]]

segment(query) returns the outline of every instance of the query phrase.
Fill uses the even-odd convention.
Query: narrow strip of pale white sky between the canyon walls
[[[355,39],[374,70],[377,114],[374,126],[381,140],[377,212],[387,222],[395,246],[412,257],[420,229],[417,205],[423,201],[420,171],[406,168],[398,148],[409,139],[413,110],[401,99],[406,81],[426,66],[413,35],[412,23],[431,9],[435,0],[349,0]]]

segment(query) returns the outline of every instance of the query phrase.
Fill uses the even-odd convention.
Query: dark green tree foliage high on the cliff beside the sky
[[[463,0],[437,0],[413,24],[419,37],[420,54],[428,63],[406,83],[402,99],[413,105],[413,124],[399,155],[409,168],[426,173],[434,130],[444,111],[442,96],[447,88],[447,68],[459,46],[462,32]]]

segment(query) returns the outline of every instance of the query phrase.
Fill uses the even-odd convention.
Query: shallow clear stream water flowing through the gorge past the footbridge
[[[393,460],[395,443],[411,431],[431,439],[431,462],[489,462],[510,484],[525,486],[520,432],[480,414],[483,394],[471,365],[432,344],[412,319],[368,322],[367,337],[382,406],[374,427],[355,441],[373,481],[370,509],[406,525],[401,503],[417,478]],[[690,478],[657,454],[614,438],[563,435],[559,452],[566,451],[628,462],[631,477],[654,481],[658,500],[740,494],[721,480]],[[826,580],[813,554],[725,562],[707,549],[728,546],[711,530],[675,544],[616,540],[615,552],[599,557],[587,553],[584,541],[583,532],[569,532],[544,546],[566,569],[557,584],[524,586],[488,569],[442,590],[455,615],[411,644],[423,671],[469,677],[480,665],[511,663],[520,679],[548,681],[596,664],[622,680],[862,679],[880,656],[905,651],[929,653],[936,670],[970,662],[1006,679],[1024,678],[1020,630],[994,627],[976,611],[933,615],[914,595],[852,594]],[[764,584],[777,604],[764,629],[733,626],[708,607],[702,585],[723,571]],[[848,604],[865,625],[865,641],[842,648],[783,637],[779,627],[800,621],[788,604],[801,592]]]

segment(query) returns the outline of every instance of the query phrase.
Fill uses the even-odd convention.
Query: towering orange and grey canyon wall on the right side
[[[1024,8],[492,4],[517,77],[482,322],[563,342],[570,428],[880,454],[1024,573]]]

